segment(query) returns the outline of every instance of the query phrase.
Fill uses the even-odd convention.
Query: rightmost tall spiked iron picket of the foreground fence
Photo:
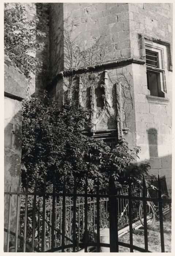
[[[163,211],[162,211],[162,202],[161,202],[161,182],[158,175],[158,199],[159,201],[159,221],[160,221],[160,241],[161,241],[161,252],[165,252],[164,245],[164,230],[163,230]]]

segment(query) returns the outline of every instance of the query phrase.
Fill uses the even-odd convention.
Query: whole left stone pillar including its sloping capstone
[[[22,99],[28,93],[33,93],[33,88],[28,88],[28,83],[22,72],[4,57],[4,191],[17,191],[21,178],[21,128],[22,128]],[[17,197],[12,196],[11,200],[11,222],[10,230],[15,232],[16,225],[16,201]],[[4,227],[7,228],[9,196],[4,198]],[[4,233],[4,251],[7,241]],[[11,242],[14,237],[11,237]]]

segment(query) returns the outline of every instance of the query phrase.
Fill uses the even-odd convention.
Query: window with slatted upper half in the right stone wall
[[[165,97],[165,70],[167,69],[166,51],[165,45],[156,44],[149,40],[145,41],[147,85],[150,95],[152,96]]]

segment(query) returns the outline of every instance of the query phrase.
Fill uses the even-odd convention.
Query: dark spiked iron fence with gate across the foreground
[[[163,177],[163,188],[166,188]],[[109,180],[109,193],[101,194],[99,182],[96,193],[88,193],[87,179],[84,193],[77,192],[76,179],[73,193],[66,192],[66,182],[62,193],[46,192],[5,192],[8,198],[8,222],[5,224],[6,252],[88,252],[90,249],[100,252],[100,248],[107,247],[110,252],[119,252],[119,246],[130,249],[130,252],[149,252],[147,231],[147,207],[153,202],[159,209],[161,252],[164,252],[163,210],[164,203],[171,203],[170,199],[161,197],[161,179],[158,177],[158,196],[147,197],[147,188],[143,177],[142,191],[129,185],[128,188],[116,189],[114,178]],[[133,244],[133,225],[141,225],[138,206],[142,202],[144,223],[144,248]],[[14,208],[16,204],[16,225]],[[109,242],[100,241],[100,230],[109,227]],[[118,236],[123,228],[129,227],[129,244],[119,241]],[[95,236],[94,236],[95,233]],[[95,238],[95,240],[94,240]]]

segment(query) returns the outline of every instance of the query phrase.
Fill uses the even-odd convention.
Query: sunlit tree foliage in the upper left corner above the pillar
[[[31,74],[42,67],[35,52],[42,51],[44,43],[37,41],[37,37],[46,34],[37,29],[36,14],[28,18],[26,4],[5,3],[4,7],[4,52],[30,80]]]

